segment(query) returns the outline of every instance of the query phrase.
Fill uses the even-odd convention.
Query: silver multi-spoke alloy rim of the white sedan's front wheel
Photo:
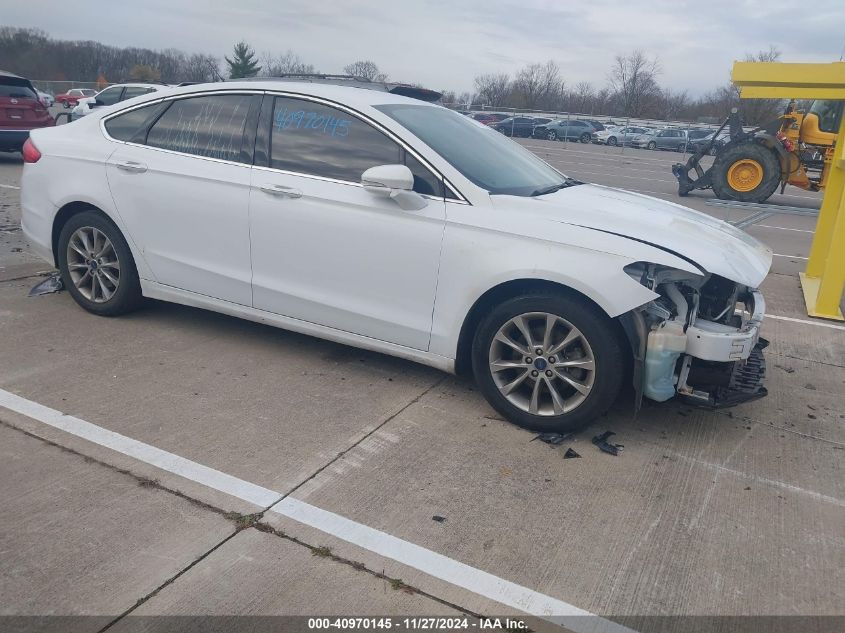
[[[508,402],[540,416],[573,411],[595,381],[587,338],[566,319],[547,312],[521,314],[502,325],[490,344],[489,366]]]

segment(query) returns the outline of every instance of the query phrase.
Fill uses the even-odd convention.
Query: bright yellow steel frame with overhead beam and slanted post
[[[845,62],[734,62],[731,79],[746,99],[845,101]],[[845,289],[845,116],[839,125],[807,270],[800,277],[807,314],[845,321],[839,307]]]

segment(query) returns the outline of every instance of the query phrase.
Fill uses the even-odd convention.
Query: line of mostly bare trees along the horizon
[[[748,61],[777,61],[780,52],[746,55]],[[246,42],[237,43],[222,60],[204,53],[177,49],[124,48],[93,41],[51,38],[38,29],[0,27],[0,60],[4,70],[41,80],[100,81],[219,81],[225,77],[278,76],[319,72],[293,51],[256,53]],[[352,62],[344,74],[372,81],[389,77],[370,60]],[[513,75],[488,73],[475,77],[472,90],[443,91],[442,102],[456,108],[517,108],[551,112],[608,115],[662,120],[722,119],[739,106],[746,123],[756,125],[777,117],[783,103],[776,99],[740,102],[730,83],[693,98],[660,84],[658,59],[635,50],[617,55],[601,83],[569,84],[553,60],[527,64]],[[410,83],[410,82],[409,82]]]

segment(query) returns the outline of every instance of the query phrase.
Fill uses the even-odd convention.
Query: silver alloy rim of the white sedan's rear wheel
[[[79,293],[94,303],[105,303],[120,285],[120,260],[108,236],[83,226],[70,236],[67,268]]]

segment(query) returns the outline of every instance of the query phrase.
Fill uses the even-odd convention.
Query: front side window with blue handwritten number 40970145
[[[399,145],[387,136],[321,103],[276,97],[272,125],[274,169],[357,183],[370,167],[402,162]]]

